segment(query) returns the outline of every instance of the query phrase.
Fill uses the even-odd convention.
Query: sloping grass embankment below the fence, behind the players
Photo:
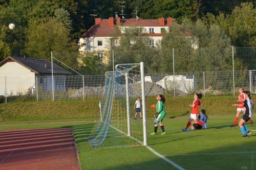
[[[130,100],[131,114],[134,113],[133,106],[135,100]],[[200,100],[202,106],[199,109],[206,109],[209,116],[234,115],[236,113],[236,107],[231,106],[234,100],[237,100],[237,96],[206,96]],[[252,96],[252,100],[256,101],[256,96]],[[192,96],[189,98],[166,97],[166,118],[188,116],[191,111],[191,107],[188,104],[193,103],[193,101]],[[0,104],[0,123],[35,123],[97,119],[99,114],[98,102],[98,100],[86,100],[2,103]],[[155,109],[152,109],[150,106],[156,104],[156,102],[155,97],[146,98],[147,117],[151,118],[155,113]]]

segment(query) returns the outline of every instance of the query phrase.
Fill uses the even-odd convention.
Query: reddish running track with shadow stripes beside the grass
[[[72,129],[0,131],[0,169],[80,169]]]

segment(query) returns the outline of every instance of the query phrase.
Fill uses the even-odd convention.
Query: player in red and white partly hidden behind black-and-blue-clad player
[[[234,101],[234,102],[238,102],[239,105],[241,105],[245,100],[245,94],[244,94],[244,89],[242,87],[239,88],[239,94],[238,94],[238,100]],[[237,108],[237,114],[236,117],[234,118],[233,124],[230,125],[230,127],[235,127],[236,123],[238,121],[238,116],[241,113],[241,111],[243,113],[245,113],[245,107],[244,106],[238,106]],[[249,122],[251,123],[251,126],[253,126],[253,122],[251,119],[249,119]]]

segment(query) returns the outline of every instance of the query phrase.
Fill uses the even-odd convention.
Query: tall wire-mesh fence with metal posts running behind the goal
[[[55,63],[52,75],[0,77],[0,102],[99,100],[106,71],[112,71],[116,64],[141,61],[145,65],[147,95],[234,95],[239,87],[256,93],[256,48],[251,47],[109,51],[104,52],[103,59],[52,52],[51,57]]]

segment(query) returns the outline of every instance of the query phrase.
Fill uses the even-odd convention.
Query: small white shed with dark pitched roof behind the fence
[[[53,63],[54,88],[66,90],[68,70]],[[52,91],[52,63],[46,59],[9,56],[0,62],[0,95],[23,95],[37,87]]]

